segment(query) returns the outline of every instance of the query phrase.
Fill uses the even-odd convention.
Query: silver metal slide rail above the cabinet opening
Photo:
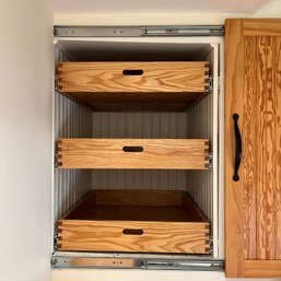
[[[223,25],[55,26],[56,37],[224,36]]]

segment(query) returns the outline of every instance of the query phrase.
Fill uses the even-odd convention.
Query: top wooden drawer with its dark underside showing
[[[60,62],[59,92],[95,110],[183,109],[209,91],[209,62]]]

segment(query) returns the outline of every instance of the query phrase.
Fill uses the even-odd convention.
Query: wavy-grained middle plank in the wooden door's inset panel
[[[257,38],[257,259],[274,259],[276,105],[273,38]],[[246,101],[245,101],[246,102]],[[254,121],[254,120],[253,120]]]

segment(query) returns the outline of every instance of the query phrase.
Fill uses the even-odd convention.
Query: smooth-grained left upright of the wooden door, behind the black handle
[[[225,22],[225,271],[226,277],[244,276],[244,190],[241,182],[233,182],[234,125],[233,114],[243,124],[244,93],[244,40],[243,21]],[[242,128],[242,127],[241,127]],[[243,138],[243,134],[242,134]],[[244,150],[243,150],[244,154]],[[244,162],[242,163],[244,165]]]

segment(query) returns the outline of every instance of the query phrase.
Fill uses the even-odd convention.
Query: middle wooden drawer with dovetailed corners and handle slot
[[[196,139],[60,139],[60,168],[207,169],[209,141]]]

